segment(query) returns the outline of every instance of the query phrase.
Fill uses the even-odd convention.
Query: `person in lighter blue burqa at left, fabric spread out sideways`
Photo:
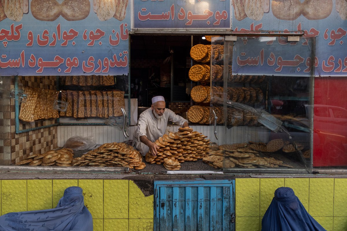
[[[0,231],[93,231],[82,192],[80,187],[68,187],[56,208],[2,215]]]

